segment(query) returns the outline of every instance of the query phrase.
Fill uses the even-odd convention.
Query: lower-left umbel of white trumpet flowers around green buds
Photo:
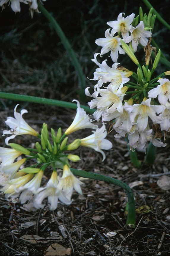
[[[72,154],[71,151],[80,146],[90,147],[100,152],[104,161],[106,156],[103,150],[111,149],[112,143],[105,139],[107,135],[105,125],[103,124],[101,128],[94,125],[84,109],[80,108],[80,103],[74,101],[77,102],[77,113],[63,135],[61,128],[58,128],[56,133],[51,128],[49,136],[45,123],[41,134],[38,134],[22,117],[27,111],[25,109],[20,113],[16,111],[18,105],[14,109],[15,118],[7,117],[6,124],[10,130],[3,131],[3,135],[10,135],[5,139],[9,147],[0,147],[0,185],[1,191],[7,197],[19,197],[22,204],[29,201],[37,209],[45,206],[43,201],[47,198],[50,210],[55,210],[58,200],[67,205],[72,202],[73,190],[82,194],[80,187],[82,182],[72,174],[69,164],[70,161],[80,161],[80,157]],[[69,134],[85,128],[93,129],[90,136],[67,143]],[[24,134],[37,137],[39,141],[35,143],[34,149],[9,143],[15,136]],[[46,183],[42,182],[44,175]]]

